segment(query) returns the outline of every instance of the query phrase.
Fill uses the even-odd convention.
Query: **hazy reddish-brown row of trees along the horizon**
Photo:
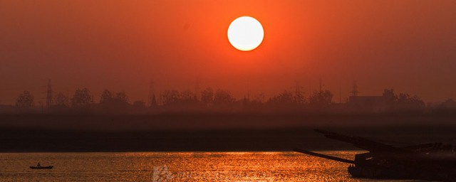
[[[385,90],[383,97],[386,109],[382,112],[415,111],[448,112],[456,110],[456,102],[452,99],[440,105],[425,105],[418,96],[407,93],[395,94],[393,90]],[[199,93],[192,90],[165,90],[158,95],[152,95],[148,103],[137,100],[130,102],[125,92],[111,92],[104,90],[99,102],[94,102],[94,96],[87,88],[77,89],[68,96],[62,92],[53,96],[53,104],[49,106],[35,105],[35,98],[31,92],[24,91],[16,98],[18,112],[87,112],[87,113],[160,113],[160,112],[356,112],[364,111],[355,107],[348,100],[344,103],[333,102],[333,93],[330,90],[314,90],[306,97],[304,92],[284,90],[277,95],[266,99],[264,94],[255,97],[236,99],[229,90],[207,87]]]

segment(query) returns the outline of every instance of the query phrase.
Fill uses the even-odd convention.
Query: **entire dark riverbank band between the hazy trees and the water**
[[[313,129],[385,144],[456,145],[456,114],[0,114],[0,152],[358,150]]]

